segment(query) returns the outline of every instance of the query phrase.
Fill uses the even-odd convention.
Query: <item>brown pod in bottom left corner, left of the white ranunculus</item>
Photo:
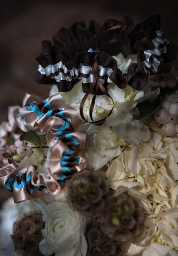
[[[42,256],[38,250],[38,243],[43,239],[41,230],[44,227],[42,213],[38,211],[25,213],[17,219],[11,235],[16,253],[20,256]]]

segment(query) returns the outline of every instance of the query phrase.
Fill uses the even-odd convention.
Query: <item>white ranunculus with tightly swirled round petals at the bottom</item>
[[[85,256],[87,242],[84,237],[86,219],[71,210],[66,202],[56,201],[46,206],[49,219],[43,215],[44,239],[39,243],[40,252],[49,256]]]

